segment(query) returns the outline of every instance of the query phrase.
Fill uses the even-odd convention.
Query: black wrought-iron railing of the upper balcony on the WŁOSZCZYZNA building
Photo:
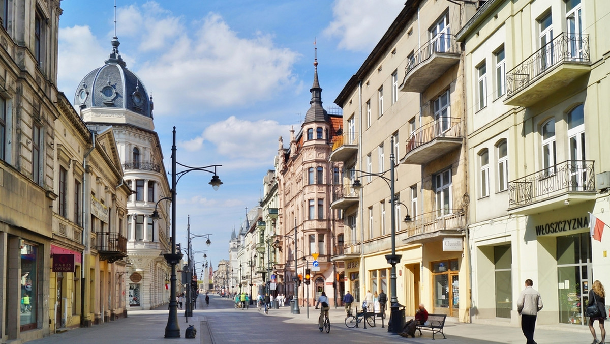
[[[506,73],[506,95],[510,98],[525,89],[554,65],[565,61],[587,62],[589,58],[589,35],[562,32]]]

